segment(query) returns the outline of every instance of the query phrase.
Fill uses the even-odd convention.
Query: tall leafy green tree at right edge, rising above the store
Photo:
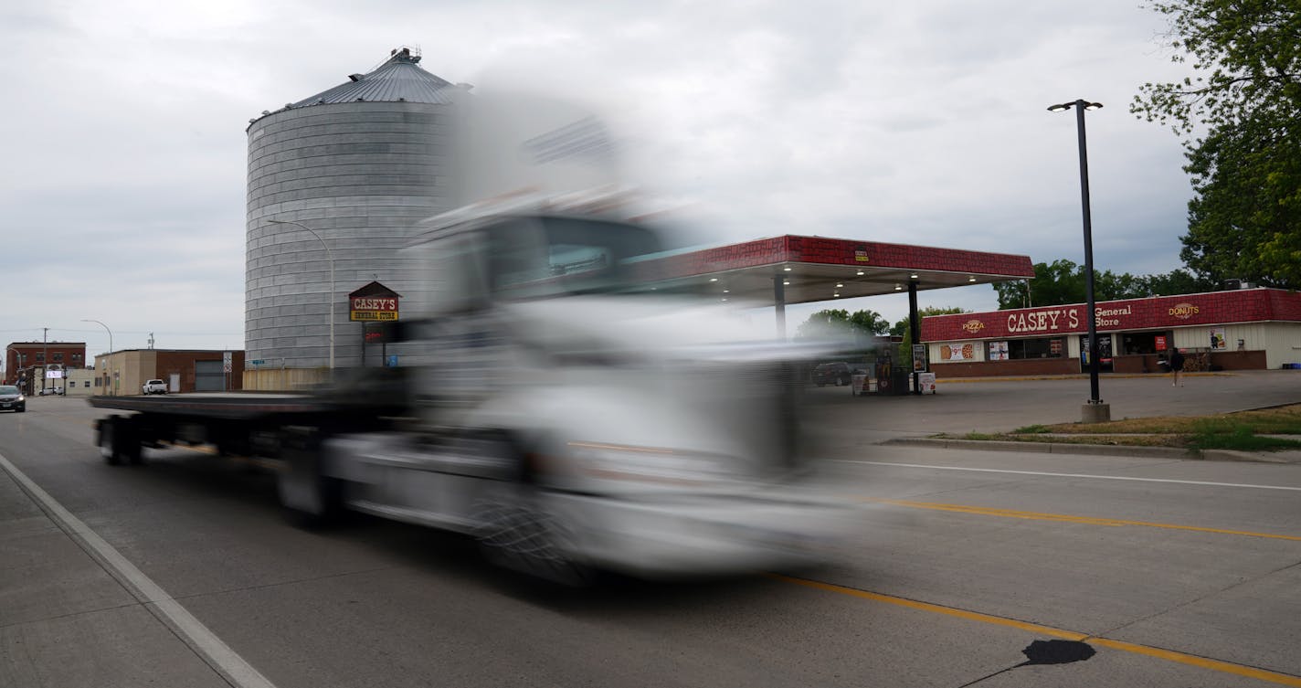
[[[1194,198],[1180,258],[1203,280],[1301,286],[1301,4],[1151,7],[1193,73],[1142,86],[1129,107],[1184,138]]]

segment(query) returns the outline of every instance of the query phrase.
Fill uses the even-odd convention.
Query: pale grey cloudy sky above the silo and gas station
[[[1180,267],[1180,142],[1136,120],[1183,75],[1137,0],[0,4],[5,342],[243,347],[248,120],[418,47],[451,82],[524,78],[628,126],[700,241],[821,234]],[[649,161],[649,164],[647,164]],[[706,229],[708,228],[708,229]],[[989,286],[922,306],[997,307]],[[907,300],[838,302],[896,320]],[[821,304],[791,308],[792,329]]]

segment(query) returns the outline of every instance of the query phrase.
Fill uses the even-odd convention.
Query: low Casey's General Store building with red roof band
[[[1271,369],[1301,364],[1301,293],[1242,289],[1095,303],[1102,372]],[[938,377],[1069,375],[1088,371],[1088,306],[1047,306],[925,317],[921,342]],[[1084,355],[1081,355],[1081,351]]]

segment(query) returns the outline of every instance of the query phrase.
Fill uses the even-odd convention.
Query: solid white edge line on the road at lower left
[[[262,672],[246,662],[243,657],[235,654],[216,633],[209,631],[207,626],[203,626],[199,619],[195,619],[180,602],[173,600],[167,590],[154,583],[135,564],[126,561],[125,557],[105,542],[95,531],[91,531],[81,519],[56,502],[53,497],[33,483],[30,477],[3,454],[0,454],[0,468],[4,468],[9,473],[9,477],[18,483],[23,492],[38,502],[40,509],[64,532],[78,541],[87,554],[98,559],[101,566],[112,568],[111,572],[117,574],[113,577],[130,583],[126,587],[127,590],[146,605],[144,609],[151,609],[155,616],[161,614],[159,620],[167,623],[190,649],[198,653],[208,666],[234,688],[276,688]],[[133,587],[135,588],[134,590],[131,590]],[[148,605],[154,606],[150,607]]]

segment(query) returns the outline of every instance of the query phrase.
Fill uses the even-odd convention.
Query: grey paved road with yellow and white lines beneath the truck
[[[1301,466],[850,441],[997,411],[958,388],[826,390],[864,505],[827,566],[583,592],[414,527],[295,529],[268,476],[193,451],[108,467],[98,410],[35,398],[0,415],[0,687],[1301,685]]]

